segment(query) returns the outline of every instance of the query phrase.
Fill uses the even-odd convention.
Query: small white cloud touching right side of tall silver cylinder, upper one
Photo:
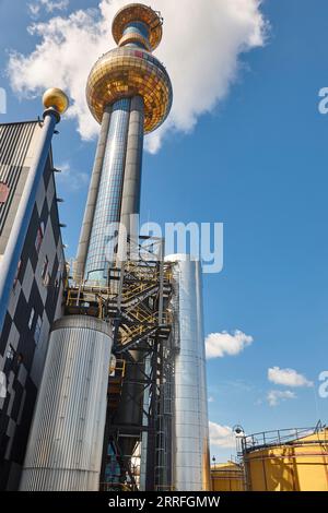
[[[236,330],[233,334],[227,332],[211,333],[206,338],[207,358],[222,358],[225,355],[236,356],[254,342],[253,336]]]

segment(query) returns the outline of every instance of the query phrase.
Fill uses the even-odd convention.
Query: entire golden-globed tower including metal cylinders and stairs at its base
[[[152,53],[162,29],[159,12],[126,5],[113,22],[118,47],[87,79],[101,133],[22,490],[210,487],[201,266],[164,259],[164,240],[136,226],[143,138],[173,102]]]

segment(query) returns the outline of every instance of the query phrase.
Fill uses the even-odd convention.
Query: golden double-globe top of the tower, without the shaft
[[[162,25],[161,13],[141,3],[125,5],[116,14],[113,36],[118,48],[97,60],[86,84],[87,105],[99,123],[106,107],[133,96],[143,99],[145,133],[167,118],[172,84],[165,67],[152,55],[162,39]]]

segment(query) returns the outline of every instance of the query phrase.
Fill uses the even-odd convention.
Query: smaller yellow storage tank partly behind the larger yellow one
[[[212,491],[245,491],[243,467],[233,462],[211,467]]]

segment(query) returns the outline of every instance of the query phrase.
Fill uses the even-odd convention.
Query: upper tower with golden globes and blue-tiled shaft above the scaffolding
[[[143,136],[164,122],[173,100],[169,76],[152,55],[162,25],[147,5],[122,8],[113,21],[118,47],[97,60],[87,79],[87,105],[101,134],[75,264],[80,281],[107,282],[115,224],[129,235],[131,215],[140,211]]]

